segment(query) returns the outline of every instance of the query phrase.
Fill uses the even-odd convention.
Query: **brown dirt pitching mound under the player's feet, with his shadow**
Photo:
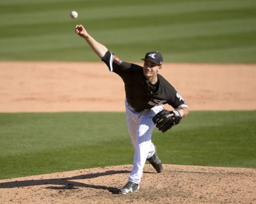
[[[132,165],[0,180],[1,203],[256,203],[256,169],[146,164],[139,192],[118,194]]]

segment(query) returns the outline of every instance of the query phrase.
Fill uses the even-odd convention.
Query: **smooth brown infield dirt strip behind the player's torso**
[[[124,85],[102,63],[0,62],[0,112],[124,111]],[[190,110],[256,109],[256,65],[165,64]]]

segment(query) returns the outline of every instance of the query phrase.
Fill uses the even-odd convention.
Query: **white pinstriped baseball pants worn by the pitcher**
[[[146,159],[153,156],[155,146],[151,142],[151,133],[155,128],[152,117],[162,111],[163,106],[155,106],[142,112],[136,112],[125,100],[126,123],[135,149],[133,169],[128,181],[139,184]]]

